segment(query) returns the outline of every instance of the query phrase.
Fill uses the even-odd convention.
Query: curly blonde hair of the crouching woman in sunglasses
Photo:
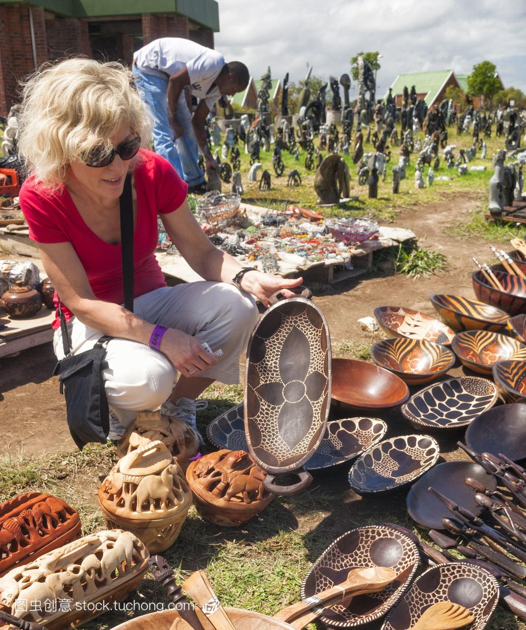
[[[151,139],[151,113],[118,62],[45,64],[23,84],[22,97],[18,151],[26,171],[50,188],[61,186],[69,164],[92,149],[110,151],[110,137],[123,124],[142,146]]]

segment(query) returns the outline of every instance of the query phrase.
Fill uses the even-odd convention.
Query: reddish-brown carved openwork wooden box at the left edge
[[[0,575],[77,538],[76,510],[52,495],[26,492],[0,504]]]

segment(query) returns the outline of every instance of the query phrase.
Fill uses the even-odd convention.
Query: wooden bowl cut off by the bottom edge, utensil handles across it
[[[291,630],[294,628],[284,621],[278,621],[278,619],[262,615],[259,612],[227,606],[225,610],[232,623],[235,624],[236,630]],[[214,630],[214,626],[210,624],[197,606],[195,612],[205,630]],[[177,610],[169,608],[161,612],[151,612],[147,615],[134,617],[134,619],[129,619],[115,626],[113,630],[170,630],[176,619],[181,619],[180,614]]]

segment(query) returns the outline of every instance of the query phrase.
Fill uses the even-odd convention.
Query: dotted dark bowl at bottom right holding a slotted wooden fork
[[[408,630],[424,610],[438,602],[467,608],[475,621],[469,630],[482,630],[498,604],[499,585],[481,566],[464,562],[439,564],[424,571],[391,610],[381,630]]]

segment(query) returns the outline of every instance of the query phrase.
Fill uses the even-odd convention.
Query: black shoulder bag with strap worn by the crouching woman
[[[126,176],[119,203],[124,306],[134,312],[134,213],[131,175]],[[66,357],[55,365],[53,375],[60,374],[60,393],[66,398],[69,432],[77,447],[83,449],[88,442],[106,442],[108,439],[110,419],[102,370],[108,367],[105,344],[111,337],[104,335],[91,350],[71,355],[66,317],[61,306],[59,299],[60,331]]]

